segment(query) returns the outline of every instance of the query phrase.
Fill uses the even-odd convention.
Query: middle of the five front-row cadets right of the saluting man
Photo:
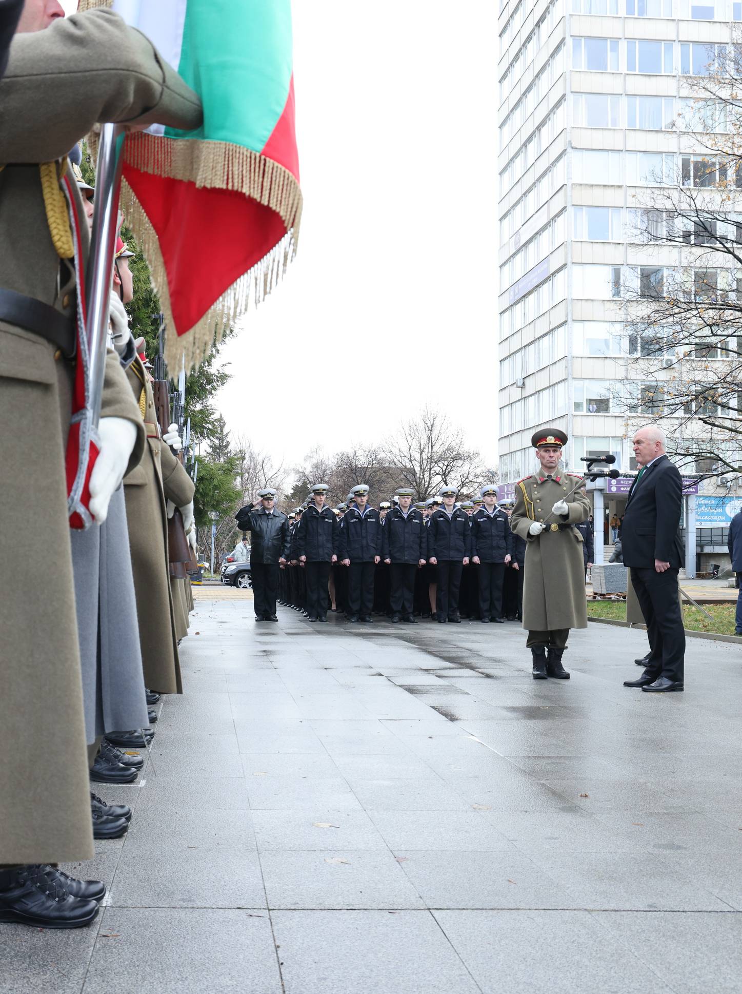
[[[412,490],[397,490],[398,503],[381,529],[381,558],[389,568],[391,620],[417,624],[414,618],[415,577],[425,566],[425,519],[412,507]]]

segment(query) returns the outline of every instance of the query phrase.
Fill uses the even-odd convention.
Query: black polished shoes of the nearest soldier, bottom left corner
[[[96,901],[75,898],[64,878],[50,880],[47,866],[0,870],[0,921],[36,928],[79,928],[98,913]]]

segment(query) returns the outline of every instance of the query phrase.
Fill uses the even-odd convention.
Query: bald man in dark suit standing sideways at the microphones
[[[632,444],[640,470],[629,491],[621,544],[652,652],[639,680],[626,680],[624,686],[662,694],[683,689],[685,631],[677,596],[684,558],[679,536],[682,480],[665,453],[661,428],[640,428]]]

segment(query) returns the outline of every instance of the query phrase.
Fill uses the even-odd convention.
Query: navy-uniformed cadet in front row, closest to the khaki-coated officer
[[[485,506],[472,519],[472,563],[479,567],[481,620],[503,622],[505,569],[513,554],[508,515],[497,506],[498,488],[482,487]]]

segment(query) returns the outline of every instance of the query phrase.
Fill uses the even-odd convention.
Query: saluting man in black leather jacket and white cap
[[[277,621],[278,574],[290,554],[289,522],[283,511],[275,507],[275,490],[258,490],[257,496],[260,507],[246,504],[234,517],[238,528],[252,534],[250,574],[255,620]]]

